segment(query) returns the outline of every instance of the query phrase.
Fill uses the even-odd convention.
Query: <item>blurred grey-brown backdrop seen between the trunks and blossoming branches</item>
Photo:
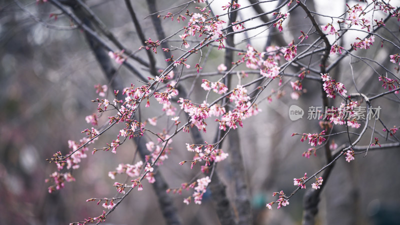
[[[322,13],[334,14],[336,10],[346,10],[345,3],[356,3],[355,1],[340,1],[337,5],[341,6],[333,10],[332,2],[336,5],[337,1],[323,2],[323,4],[314,5],[313,1],[307,1],[307,5]],[[393,2],[395,5],[396,1]],[[137,56],[147,59],[144,50],[136,51],[142,44],[137,38],[130,15],[122,0],[87,0],[85,3],[125,46],[133,49]],[[183,2],[157,1],[157,7],[166,9],[180,3]],[[225,2],[213,3],[212,7],[216,14],[222,13],[220,6],[223,3]],[[239,3],[248,5],[250,2],[240,1]],[[149,14],[146,2],[134,0],[132,4],[137,17],[140,18],[146,38],[157,39],[150,18],[144,18]],[[276,2],[261,5],[261,9],[266,11],[273,9]],[[191,11],[194,11],[194,6],[198,5],[191,5],[189,7]],[[398,1],[396,6],[399,6]],[[286,6],[284,8],[287,10]],[[281,11],[284,11],[284,8]],[[178,10],[171,9],[171,11]],[[63,14],[59,14],[57,20],[54,20],[54,16],[49,17],[50,13],[59,12],[49,2],[0,1],[0,224],[65,224],[97,216],[104,208],[96,205],[95,202],[85,202],[85,200],[91,197],[115,196],[113,182],[123,182],[126,177],[120,176],[116,180],[111,180],[107,176],[108,171],[115,170],[118,163],[132,163],[135,157],[133,142],[123,144],[117,154],[110,151],[98,151],[94,155],[88,153],[88,157],[83,159],[80,167],[73,171],[76,181],[66,183],[65,188],[59,191],[48,193],[48,184],[44,182],[44,179],[48,178],[56,167],[45,159],[50,158],[56,151],[67,153],[69,151],[67,141],[77,141],[83,137],[84,134],[80,131],[91,126],[85,122],[85,116],[97,111],[97,104],[91,102],[92,99],[98,97],[93,86],[108,84],[83,32],[71,26],[70,19]],[[244,19],[248,15],[257,13],[259,12],[256,9],[249,7],[241,11],[239,18]],[[336,13],[338,14],[340,13]],[[286,32],[282,32],[283,35],[274,30],[267,33],[271,38],[271,45],[281,45],[282,42],[287,44],[300,35],[298,30],[308,30],[309,20],[304,17],[305,14],[300,10],[291,12],[284,26]],[[187,20],[180,23],[170,19],[162,20],[166,35],[174,33],[186,22]],[[256,18],[252,22],[246,26],[260,24],[263,21]],[[320,22],[326,24],[329,21]],[[264,50],[266,35],[243,40],[260,31],[262,29],[249,31],[245,35],[237,35],[236,47],[245,49],[246,44],[251,43],[258,50]],[[396,23],[393,19],[386,23],[386,28],[381,31],[381,35],[393,39],[398,45],[399,40],[393,37],[393,35],[398,35],[398,22]],[[310,36],[306,43],[311,43],[312,38],[314,37]],[[173,42],[173,39],[176,41],[179,37],[177,35],[172,37],[172,41],[168,44],[178,45],[179,42]],[[347,39],[343,39],[342,46],[348,48],[351,41],[346,41]],[[398,49],[396,51],[389,45],[380,48],[380,40],[375,41],[376,44],[372,49],[360,50],[357,54],[376,60],[395,72],[395,65],[389,62],[388,55],[398,53]],[[376,53],[371,55],[371,52]],[[155,56],[157,66],[164,67],[166,64],[163,55],[158,53]],[[304,59],[304,61],[307,60],[309,58]],[[345,84],[348,92],[356,92],[351,79],[350,60],[353,63],[355,82],[361,92],[373,94],[384,91],[377,83],[377,76],[371,67],[362,61],[348,58],[331,73],[332,77]],[[131,63],[147,76],[146,68],[133,60]],[[189,64],[194,65],[194,63]],[[216,71],[220,63],[223,63],[223,51],[213,50],[202,72]],[[116,64],[115,67],[117,67]],[[372,65],[372,67],[383,73],[378,66]],[[246,68],[241,66],[239,69]],[[292,72],[295,71],[296,69],[292,70]],[[185,72],[195,73],[195,69]],[[123,66],[118,69],[117,76],[120,77],[124,86],[130,86],[130,83],[139,84],[138,78]],[[259,74],[249,73],[248,77],[242,79],[241,82],[246,83],[258,76]],[[217,79],[216,77],[206,78]],[[284,78],[283,81],[289,79],[291,78]],[[187,79],[182,84],[189,89],[193,80],[194,78]],[[276,89],[278,80],[273,82]],[[193,102],[201,103],[206,91],[200,88],[200,81],[197,80],[196,84],[195,94],[191,97]],[[273,205],[273,210],[268,210],[265,204],[276,200],[272,197],[272,192],[283,190],[285,193],[290,193],[295,189],[294,177],[302,177],[304,172],[312,174],[325,163],[322,152],[318,152],[316,157],[311,155],[309,159],[301,157],[302,152],[309,148],[309,144],[301,143],[299,136],[290,136],[293,132],[320,132],[318,120],[308,120],[307,114],[296,121],[291,121],[288,117],[288,108],[291,104],[299,105],[305,113],[309,106],[322,105],[319,85],[319,82],[314,80],[303,82],[303,88],[306,91],[298,100],[291,99],[292,90],[288,84],[281,90],[280,98],[273,95],[271,103],[268,103],[265,96],[260,98],[262,100],[258,102],[258,105],[262,112],[244,120],[244,127],[238,131],[255,224],[301,224],[303,190],[290,198],[288,206],[279,210],[276,210],[275,205]],[[268,95],[271,92],[270,88],[265,92]],[[112,99],[112,90],[107,92],[107,97]],[[216,95],[209,96],[210,100],[215,98]],[[380,111],[380,117],[389,127],[400,125],[398,102],[400,99],[391,95],[380,99],[379,102],[374,102],[374,106],[379,105],[383,108]],[[152,101],[151,104],[154,106],[151,110],[143,109],[143,120],[162,114],[161,106],[156,101]],[[338,99],[332,102],[335,106],[339,104]],[[177,104],[174,106],[178,108]],[[148,127],[160,132],[162,125],[168,121],[170,123],[170,118],[161,117],[157,127],[149,124]],[[102,115],[99,120],[100,126],[106,122],[106,115]],[[203,137],[211,142],[217,125],[213,124],[212,119],[208,124],[212,124],[210,127],[215,128],[209,128],[206,133],[203,133]],[[113,127],[89,149],[103,147],[106,142],[111,142],[120,128],[121,126]],[[337,127],[335,131],[342,131],[341,128]],[[385,134],[381,132],[382,125],[378,122],[376,130],[383,135],[376,134],[381,143],[385,142]],[[355,129],[353,131],[359,132]],[[368,144],[370,136],[369,131],[360,144]],[[152,138],[152,140],[155,139]],[[173,150],[168,155],[169,158],[159,168],[159,172],[171,188],[179,187],[182,182],[188,182],[199,171],[199,165],[192,170],[186,165],[178,165],[179,161],[191,159],[193,156],[185,147],[185,143],[190,143],[190,141],[187,133],[180,133],[171,144]],[[346,143],[347,136],[335,136],[334,141],[341,145]],[[398,148],[393,148],[370,151],[366,157],[357,155],[351,163],[340,158],[325,183],[316,223],[397,223],[400,215],[398,192],[400,152],[398,150]],[[229,152],[229,143],[225,144],[224,151]],[[137,158],[135,160],[137,161]],[[218,164],[217,172],[227,187],[228,197],[233,198],[234,183],[228,160]],[[106,224],[165,224],[151,185],[145,181],[143,186],[142,191],[134,190],[129,194],[126,200],[107,217]],[[310,183],[307,184],[307,188],[311,188]],[[183,191],[182,195],[170,194],[182,223],[218,224],[215,208],[210,200],[212,193],[208,191],[201,205],[184,204],[183,198],[191,193]]]

